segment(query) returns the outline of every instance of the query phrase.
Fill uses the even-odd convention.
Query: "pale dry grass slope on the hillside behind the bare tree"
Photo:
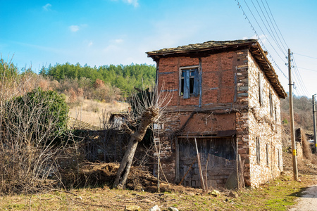
[[[92,124],[93,126],[101,127],[102,124],[100,120],[104,114],[106,114],[106,119],[108,120],[108,116],[111,113],[127,109],[128,103],[120,103],[118,101],[103,103],[86,99],[77,103],[77,106],[70,108],[69,116],[82,122]]]

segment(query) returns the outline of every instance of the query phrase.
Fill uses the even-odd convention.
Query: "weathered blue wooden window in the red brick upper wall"
[[[180,96],[187,99],[191,95],[198,96],[198,92],[198,67],[180,68]]]

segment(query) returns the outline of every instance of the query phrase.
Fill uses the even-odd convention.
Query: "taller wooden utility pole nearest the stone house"
[[[291,66],[291,53],[288,49],[288,88],[290,94],[290,124],[291,124],[291,140],[292,140],[292,160],[293,160],[293,174],[294,180],[298,181],[298,169],[297,169],[297,151],[295,144],[295,131],[294,131],[294,113],[293,113],[293,93],[292,93],[292,66]]]

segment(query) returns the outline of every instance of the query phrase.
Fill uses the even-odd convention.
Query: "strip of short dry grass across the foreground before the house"
[[[71,191],[51,191],[32,196],[0,197],[0,210],[124,210],[126,205],[138,205],[149,210],[159,205],[161,210],[287,210],[294,205],[310,177],[294,182],[289,174],[257,189],[246,189],[230,197],[230,192],[212,196],[200,189],[151,193],[148,191],[116,190],[108,186],[79,188]]]

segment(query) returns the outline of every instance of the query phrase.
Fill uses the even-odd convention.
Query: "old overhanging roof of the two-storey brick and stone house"
[[[260,65],[269,82],[278,93],[280,98],[286,98],[287,94],[278,80],[273,66],[266,57],[266,52],[263,51],[257,39],[238,39],[232,41],[205,41],[201,44],[189,44],[186,46],[178,46],[176,48],[161,49],[158,51],[149,51],[147,56],[158,60],[159,58],[166,58],[171,56],[186,56],[188,54],[199,53],[218,53],[218,51],[228,51],[235,49],[249,49],[256,62]]]

